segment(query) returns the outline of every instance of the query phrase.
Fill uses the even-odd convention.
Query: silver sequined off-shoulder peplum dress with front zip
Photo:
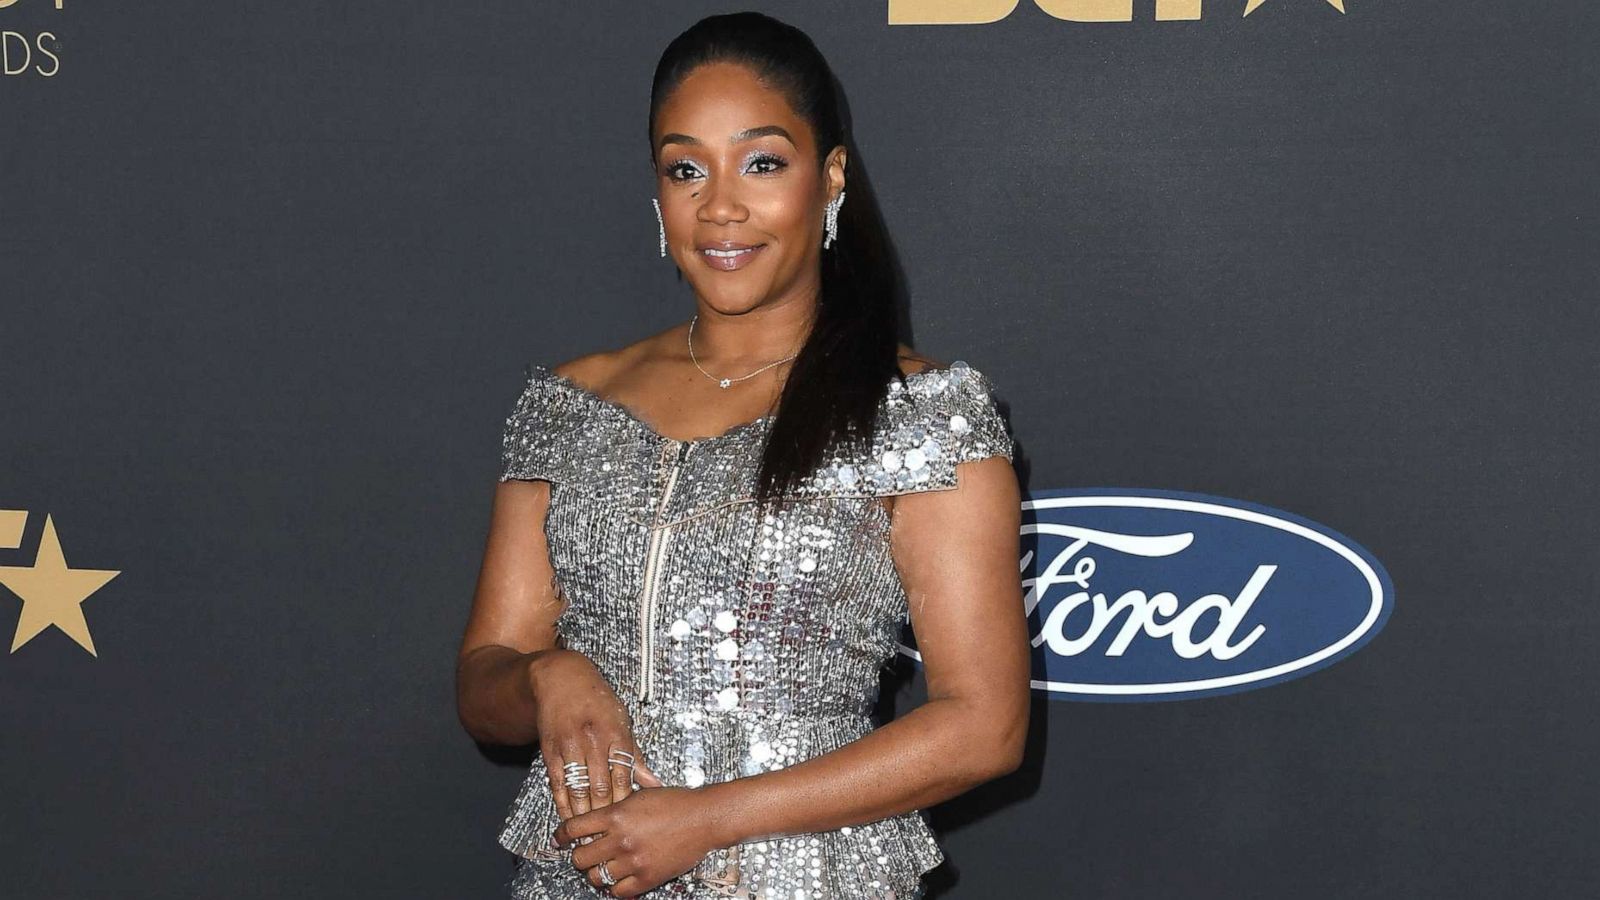
[[[506,420],[501,480],[550,482],[546,538],[566,605],[562,644],[627,706],[646,762],[699,786],[782,769],[874,729],[880,668],[909,618],[880,496],[957,485],[962,461],[1011,460],[989,378],[965,362],[890,380],[870,453],[834,455],[760,512],[771,416],[674,440],[539,364]],[[541,754],[499,842],[520,900],[605,897],[552,849]],[[643,894],[910,900],[944,860],[922,810],[709,854]]]

